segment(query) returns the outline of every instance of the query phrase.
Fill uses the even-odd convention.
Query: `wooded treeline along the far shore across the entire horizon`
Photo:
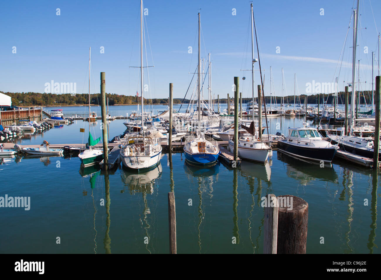
[[[11,93],[3,92],[12,98],[12,104],[16,106],[55,106],[55,105],[86,105],[89,102],[88,94],[75,94],[72,96],[70,93],[56,94],[56,93],[35,93],[35,92],[22,92],[22,93]],[[234,96],[234,94],[231,94]],[[233,97],[232,96],[232,97]],[[138,98],[136,96],[126,96],[115,93],[106,93],[106,100],[109,98],[109,105],[133,105],[138,104]],[[304,104],[306,94],[301,94],[300,97],[296,96],[295,102]],[[328,100],[327,100],[328,98]],[[258,99],[258,98],[256,98]],[[233,101],[233,98],[231,99]],[[266,103],[270,103],[270,96],[265,96]],[[274,101],[275,100],[275,101]],[[320,100],[320,104],[323,104],[323,100],[327,101],[328,104],[333,103],[333,97],[331,94],[312,94],[307,96],[308,104],[317,104]],[[174,98],[173,104],[180,104],[183,101],[182,98]],[[242,98],[243,103],[248,103],[251,98]],[[100,94],[91,94],[91,104],[100,105],[101,96]],[[205,100],[208,102],[208,100]],[[217,104],[218,100],[215,99],[214,102]],[[221,98],[220,103],[227,103],[227,98]],[[273,104],[281,104],[282,96],[272,97]],[[294,96],[289,95],[284,97],[285,104],[293,104]],[[372,102],[372,91],[360,91],[360,104],[371,104]],[[184,103],[189,103],[189,99],[184,99]],[[351,103],[351,92],[349,93],[349,103]],[[141,104],[141,97],[139,97],[139,104]],[[167,98],[144,98],[144,104],[168,104]],[[339,92],[338,104],[345,104],[344,92]],[[1,104],[0,104],[1,105]]]

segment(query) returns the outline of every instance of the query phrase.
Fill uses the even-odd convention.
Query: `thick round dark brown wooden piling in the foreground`
[[[305,254],[308,203],[294,195],[278,197],[277,254]]]

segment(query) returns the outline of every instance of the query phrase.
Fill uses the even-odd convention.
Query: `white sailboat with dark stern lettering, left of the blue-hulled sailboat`
[[[144,108],[143,108],[143,1],[140,1],[140,92],[142,99],[142,115],[141,115],[141,127],[139,134],[131,134],[126,137],[126,142],[120,149],[120,158],[122,159],[123,166],[141,170],[151,168],[160,164],[162,146],[158,142],[156,137],[148,136],[153,135],[152,131],[147,131],[147,127],[144,126]]]

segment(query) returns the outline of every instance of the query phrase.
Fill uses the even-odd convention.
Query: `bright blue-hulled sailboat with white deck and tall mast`
[[[198,114],[199,114],[199,128],[197,129],[196,138],[188,138],[184,145],[184,154],[186,161],[196,165],[210,165],[217,161],[219,154],[219,147],[217,144],[213,144],[205,139],[203,133],[201,133],[201,107],[200,107],[200,13],[199,16],[199,66],[198,69]]]

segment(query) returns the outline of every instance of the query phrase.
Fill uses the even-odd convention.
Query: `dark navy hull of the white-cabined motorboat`
[[[331,148],[311,148],[311,147],[301,147],[296,145],[291,145],[287,143],[287,139],[278,140],[277,150],[283,152],[284,154],[290,155],[307,162],[321,163],[321,161],[326,163],[331,163],[333,157],[335,157],[336,149]]]

